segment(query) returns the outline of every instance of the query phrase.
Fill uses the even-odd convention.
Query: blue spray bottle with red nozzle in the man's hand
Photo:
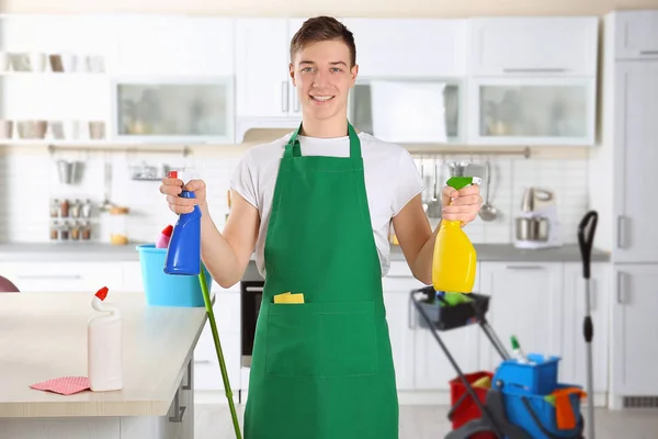
[[[170,177],[177,178],[175,171]],[[194,192],[182,191],[179,196],[193,199]],[[198,205],[190,213],[182,213],[173,227],[164,273],[181,275],[198,275],[201,271],[201,209]]]

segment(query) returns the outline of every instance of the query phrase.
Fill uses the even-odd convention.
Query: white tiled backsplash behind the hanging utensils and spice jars
[[[56,160],[79,159],[84,162],[83,177],[79,184],[63,184],[58,180]],[[224,226],[227,213],[228,178],[238,156],[219,151],[192,154],[183,158],[180,154],[126,154],[102,151],[66,151],[49,155],[45,148],[34,147],[11,154],[0,151],[0,241],[47,241],[49,236],[50,199],[91,199],[100,204],[104,198],[104,161],[112,162],[110,199],[131,209],[129,236],[138,241],[152,241],[167,224],[175,222],[169,211],[164,195],[158,191],[158,181],[131,179],[129,167],[146,161],[149,166],[169,165],[173,168],[191,169],[208,185],[208,204],[217,226]],[[441,158],[440,158],[441,159]],[[454,160],[456,157],[446,157]],[[469,157],[460,159],[469,160]],[[481,161],[478,157],[474,161]],[[431,194],[433,173],[432,159],[423,158],[429,175],[428,195]],[[526,188],[533,185],[555,193],[558,215],[565,243],[576,243],[577,225],[587,212],[588,162],[587,159],[524,159],[522,157],[491,156],[495,169],[491,180],[490,202],[498,210],[498,218],[486,223],[477,218],[467,227],[474,243],[511,243],[514,233],[514,216],[521,209],[521,199]],[[444,172],[444,179],[447,171]],[[486,195],[483,181],[483,195]],[[98,215],[98,213],[95,214]],[[106,214],[99,218],[94,239],[109,241]]]

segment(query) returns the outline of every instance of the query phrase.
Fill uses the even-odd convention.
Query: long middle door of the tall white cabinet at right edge
[[[614,67],[614,262],[658,262],[658,59]],[[612,91],[611,91],[612,92]]]

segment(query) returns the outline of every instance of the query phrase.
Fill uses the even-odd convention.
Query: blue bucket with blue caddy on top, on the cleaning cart
[[[569,405],[576,426],[560,429],[551,394],[559,389],[582,387],[558,382],[559,357],[527,354],[529,363],[503,361],[492,383],[502,393],[504,413],[510,423],[523,428],[533,439],[577,438],[582,431],[580,395],[570,394]]]

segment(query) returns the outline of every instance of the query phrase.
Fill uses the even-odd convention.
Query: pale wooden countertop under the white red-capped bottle
[[[164,416],[207,319],[205,308],[146,306],[116,293],[122,309],[124,387],[65,396],[30,389],[87,376],[92,293],[0,293],[0,417]]]

